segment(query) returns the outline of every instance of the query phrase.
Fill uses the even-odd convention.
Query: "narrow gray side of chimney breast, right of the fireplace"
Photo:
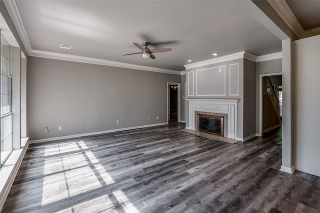
[[[243,59],[243,138],[255,134],[255,62]]]

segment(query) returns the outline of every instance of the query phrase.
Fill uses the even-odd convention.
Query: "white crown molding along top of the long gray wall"
[[[80,62],[80,63],[91,63],[91,64],[98,64],[98,65],[105,65],[105,66],[115,66],[115,67],[138,69],[138,70],[144,70],[144,71],[162,72],[162,73],[168,73],[168,74],[178,74],[178,75],[181,74],[181,71],[177,71],[177,70],[162,69],[162,68],[156,68],[156,67],[150,67],[150,66],[135,65],[130,63],[122,63],[122,62],[116,62],[111,60],[103,60],[103,59],[97,59],[92,57],[83,57],[83,56],[77,56],[77,55],[62,54],[62,53],[48,52],[48,51],[34,50],[34,49],[30,50],[29,56],[44,57],[44,58],[57,59],[57,60],[67,60],[67,61],[74,61],[74,62]]]

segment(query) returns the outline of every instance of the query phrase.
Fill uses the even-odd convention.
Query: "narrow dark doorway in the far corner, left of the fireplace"
[[[167,83],[167,122],[180,122],[180,94],[181,84]]]

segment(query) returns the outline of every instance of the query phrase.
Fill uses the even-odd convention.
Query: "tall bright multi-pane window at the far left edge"
[[[4,162],[12,151],[12,112],[11,112],[11,69],[10,45],[1,33],[1,73],[0,73],[0,106],[1,106],[1,143],[0,162]]]

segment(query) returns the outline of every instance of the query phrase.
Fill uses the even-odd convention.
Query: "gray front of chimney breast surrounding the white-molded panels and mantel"
[[[238,63],[238,82],[239,82],[239,90],[238,90],[238,95],[229,95],[229,65]],[[206,69],[206,68],[211,68],[211,67],[218,67],[218,66],[224,66],[225,65],[225,82],[220,82],[220,86],[225,85],[225,95],[219,95],[219,96],[197,96],[196,95],[196,70],[199,69]],[[188,72],[193,71],[194,72],[194,96],[187,96],[186,98],[189,99],[239,99],[237,102],[237,137],[238,138],[243,138],[243,58],[241,59],[235,59],[235,60],[230,60],[230,61],[224,61],[220,63],[215,63],[215,64],[210,64],[210,65],[205,65],[205,66],[200,66],[196,68],[191,68],[186,70],[186,82],[188,82]],[[203,83],[203,82],[198,82],[198,83]],[[205,86],[205,85],[201,85]],[[186,87],[188,88],[188,85],[186,83]],[[187,114],[186,114],[187,116]],[[186,120],[188,118],[186,117]]]

